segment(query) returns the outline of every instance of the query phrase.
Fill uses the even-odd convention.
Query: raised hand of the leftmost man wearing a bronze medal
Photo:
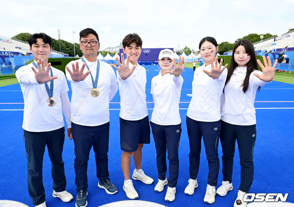
[[[37,60],[37,65],[38,65],[38,71],[36,71],[35,67],[31,67],[31,68],[34,71],[35,79],[39,84],[48,83],[58,78],[57,76],[50,77],[49,75],[51,63],[48,63],[47,69],[45,69],[44,59],[41,60],[41,64],[40,64],[40,61]]]

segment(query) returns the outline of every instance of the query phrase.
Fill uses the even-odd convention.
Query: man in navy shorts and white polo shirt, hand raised
[[[153,179],[146,176],[141,169],[143,144],[150,143],[150,126],[146,106],[146,70],[138,64],[142,51],[142,40],[136,33],[128,34],[122,41],[125,61],[116,58],[119,67],[111,65],[117,71],[121,110],[119,113],[121,150],[121,168],[125,178],[123,190],[129,199],[137,199],[138,193],[130,179],[131,156],[133,155],[135,170],[132,178],[150,185]]]

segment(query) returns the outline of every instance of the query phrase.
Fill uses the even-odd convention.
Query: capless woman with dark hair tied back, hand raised
[[[199,43],[199,50],[205,61],[203,66],[194,72],[192,82],[192,99],[187,111],[187,130],[190,144],[189,184],[185,189],[187,195],[193,195],[198,187],[197,176],[200,163],[201,137],[208,160],[208,178],[204,202],[215,202],[218,182],[219,158],[218,140],[220,137],[220,96],[228,74],[227,64],[218,64],[216,54],[218,44],[213,37],[205,37]],[[215,60],[215,64],[213,64]]]

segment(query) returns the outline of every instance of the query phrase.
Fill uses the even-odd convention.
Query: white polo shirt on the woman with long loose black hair
[[[250,74],[249,87],[244,94],[243,81],[247,67],[236,67],[230,81],[225,86],[225,103],[221,112],[221,120],[235,125],[256,124],[254,100],[257,88],[268,83],[254,76],[254,73],[262,75],[261,71],[255,70]]]

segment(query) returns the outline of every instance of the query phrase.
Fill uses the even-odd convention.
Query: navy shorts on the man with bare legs
[[[119,117],[121,150],[134,152],[138,149],[138,144],[150,143],[149,117],[140,120],[129,121]]]

